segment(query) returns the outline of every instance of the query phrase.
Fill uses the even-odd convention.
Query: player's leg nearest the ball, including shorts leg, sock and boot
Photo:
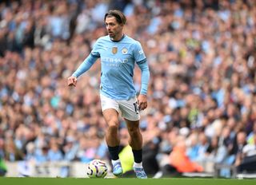
[[[113,164],[113,174],[122,175],[122,166],[119,160],[119,137],[118,137],[118,103],[106,96],[101,95],[102,113],[106,120],[106,144],[110,152],[111,162]]]

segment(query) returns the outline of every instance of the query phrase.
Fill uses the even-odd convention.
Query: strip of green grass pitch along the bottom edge
[[[255,185],[256,179],[74,179],[74,178],[0,178],[1,185]]]

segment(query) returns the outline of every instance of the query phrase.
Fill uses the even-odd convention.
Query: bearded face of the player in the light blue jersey
[[[113,40],[119,40],[122,37],[122,25],[118,24],[116,18],[107,17],[106,21],[106,31]]]

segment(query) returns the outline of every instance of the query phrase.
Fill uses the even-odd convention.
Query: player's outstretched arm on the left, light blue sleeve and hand
[[[88,57],[79,65],[78,69],[72,74],[71,77],[67,79],[67,85],[69,86],[76,86],[78,77],[82,75],[82,73],[86,73],[90,69],[92,65],[94,65],[95,61],[97,61],[98,57],[94,57],[90,53]]]

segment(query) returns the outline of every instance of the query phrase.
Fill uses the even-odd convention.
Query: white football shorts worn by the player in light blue
[[[127,120],[139,120],[138,102],[136,96],[130,100],[113,100],[100,94],[102,112],[108,108],[114,108],[123,118]]]

